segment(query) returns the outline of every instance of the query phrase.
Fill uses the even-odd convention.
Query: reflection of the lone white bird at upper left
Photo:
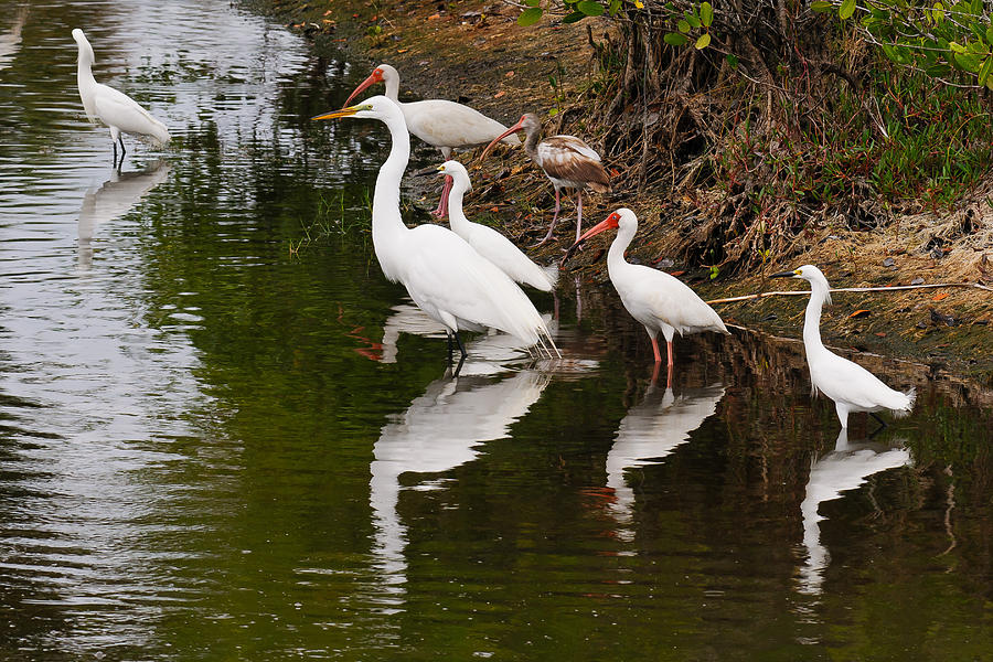
[[[96,228],[108,221],[127,214],[152,189],[169,177],[169,166],[157,160],[145,170],[120,172],[114,170],[110,179],[97,189],[90,188],[83,196],[79,210],[79,267],[88,269],[93,264],[93,234]]]

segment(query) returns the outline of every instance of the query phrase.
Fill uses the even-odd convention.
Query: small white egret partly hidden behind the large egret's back
[[[534,264],[505,236],[479,223],[472,223],[462,211],[462,197],[472,189],[469,172],[458,161],[446,161],[438,166],[438,172],[446,179],[448,193],[448,222],[457,235],[470,246],[500,267],[511,280],[530,285],[535,289],[551,292],[555,288],[555,277],[547,269]]]

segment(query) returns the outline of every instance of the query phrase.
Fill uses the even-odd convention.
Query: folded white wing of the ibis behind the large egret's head
[[[506,127],[479,110],[447,102],[427,99],[402,104],[407,130],[435,147],[472,147],[485,145],[506,130]],[[520,145],[516,136],[504,142]]]

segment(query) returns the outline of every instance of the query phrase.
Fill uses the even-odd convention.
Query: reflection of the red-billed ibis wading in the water
[[[613,491],[610,511],[621,525],[618,536],[630,541],[628,528],[634,509],[634,490],[624,481],[624,471],[653,465],[690,440],[690,433],[717,410],[724,386],[686,388],[676,396],[671,386],[661,388],[653,376],[644,397],[620,421],[613,446],[607,453],[607,487]]]

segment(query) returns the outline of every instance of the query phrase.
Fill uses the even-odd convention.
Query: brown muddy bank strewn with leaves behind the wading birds
[[[397,2],[389,7],[357,0],[301,2],[247,0],[252,11],[273,17],[288,29],[306,34],[318,55],[346,55],[370,67],[388,62],[403,75],[402,96],[440,97],[468,103],[506,124],[523,110],[537,109],[546,131],[583,136],[601,149],[597,136],[585,129],[577,99],[592,94],[597,75],[590,61],[591,39],[610,39],[607,21],[563,25],[544,20],[522,29],[514,22],[517,9],[494,2],[424,4]],[[555,85],[553,85],[555,83]],[[568,98],[568,102],[566,102]],[[549,119],[549,109],[562,108]],[[461,156],[468,162],[467,156]],[[611,163],[618,179],[622,164]],[[467,200],[470,217],[489,221],[522,243],[543,234],[551,220],[552,188],[523,152],[502,150],[472,170],[474,192]],[[687,214],[705,213],[700,200],[669,200],[664,192],[636,194],[623,182],[615,193],[584,199],[584,226],[590,226],[617,206],[636,210],[640,228],[629,259],[676,273],[704,298],[719,299],[769,290],[802,289],[805,284],[766,281],[762,274],[720,274],[671,256],[686,232]],[[719,196],[719,192],[714,193]],[[425,210],[434,200],[418,201]],[[633,201],[633,202],[632,202]],[[893,229],[846,232],[820,227],[804,242],[801,260],[788,264],[772,256],[766,274],[781,268],[816,264],[834,288],[886,287],[916,282],[975,281],[968,278],[982,269],[985,246],[963,248],[950,268],[944,255],[920,247],[935,220],[898,223]],[[549,242],[535,255],[540,261],[557,260],[575,228],[575,210],[564,202],[557,243]],[[925,238],[922,238],[925,237]],[[599,237],[598,237],[599,239]],[[570,258],[568,268],[585,282],[606,284],[601,248],[595,241],[588,250]],[[993,246],[989,247],[993,259]],[[805,259],[803,259],[805,258]],[[963,261],[964,260],[964,261]],[[796,261],[796,264],[793,264]],[[989,264],[993,275],[993,264]],[[967,276],[967,277],[963,277]],[[760,333],[799,338],[805,297],[770,297],[717,303],[726,322]],[[984,388],[993,387],[993,292],[978,288],[920,289],[899,292],[839,293],[824,309],[822,335],[829,345],[847,354],[888,356],[918,365],[926,378],[967,377]]]

